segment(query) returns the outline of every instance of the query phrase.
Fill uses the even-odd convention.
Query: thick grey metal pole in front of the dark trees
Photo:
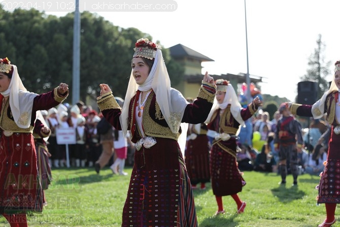
[[[76,0],[73,23],[73,74],[72,74],[72,104],[80,99],[80,15],[79,0]]]

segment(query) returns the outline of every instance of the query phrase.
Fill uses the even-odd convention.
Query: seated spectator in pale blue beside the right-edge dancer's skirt
[[[327,151],[322,144],[318,144],[315,146],[312,155],[310,155],[310,159],[307,167],[305,168],[305,172],[311,175],[317,175],[323,171],[324,169],[324,161],[327,160]]]

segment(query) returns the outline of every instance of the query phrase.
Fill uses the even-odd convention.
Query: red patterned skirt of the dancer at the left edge
[[[42,188],[30,133],[0,137],[0,212],[42,212]]]

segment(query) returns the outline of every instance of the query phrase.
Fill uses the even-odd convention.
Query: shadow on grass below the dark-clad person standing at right
[[[305,192],[298,189],[297,186],[288,186],[281,184],[277,188],[271,189],[271,193],[277,198],[279,198],[280,202],[282,203],[289,203],[293,200],[300,200],[302,197],[305,196]]]

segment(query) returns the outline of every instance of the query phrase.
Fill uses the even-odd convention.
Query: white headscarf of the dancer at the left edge
[[[27,91],[22,84],[17,67],[12,64],[13,74],[8,89],[1,92],[10,96],[10,107],[15,123],[21,128],[28,128],[32,117],[33,99],[38,95]]]

